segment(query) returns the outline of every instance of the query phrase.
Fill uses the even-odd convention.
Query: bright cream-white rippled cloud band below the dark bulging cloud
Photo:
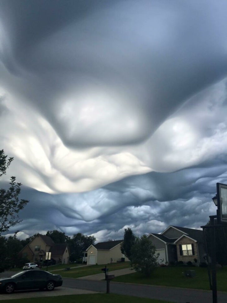
[[[20,181],[39,191],[83,192],[150,168],[123,149],[69,149],[51,125],[29,106],[5,97],[7,108],[0,123],[5,153],[15,160],[8,173],[24,171]],[[16,169],[15,169],[16,167]]]

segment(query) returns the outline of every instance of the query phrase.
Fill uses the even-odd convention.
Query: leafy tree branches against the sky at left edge
[[[0,150],[0,178],[6,174],[12,161],[13,158],[7,159],[4,150]],[[16,177],[11,177],[10,181],[8,190],[0,189],[0,234],[22,221],[19,220],[18,213],[28,203],[27,200],[19,200],[18,198],[21,192],[21,183],[16,182]]]

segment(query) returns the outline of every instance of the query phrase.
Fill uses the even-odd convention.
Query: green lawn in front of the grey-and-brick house
[[[185,270],[195,270],[196,277],[185,277]],[[201,267],[158,267],[150,278],[135,272],[129,275],[115,277],[115,282],[162,285],[173,287],[210,289],[207,268]],[[227,291],[227,266],[217,269],[217,289]]]

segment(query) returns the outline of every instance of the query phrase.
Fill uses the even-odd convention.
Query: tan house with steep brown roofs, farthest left
[[[30,262],[44,261],[46,253],[51,252],[51,258],[57,263],[69,263],[69,249],[66,243],[55,244],[49,236],[37,235],[19,252],[21,257],[27,258]]]

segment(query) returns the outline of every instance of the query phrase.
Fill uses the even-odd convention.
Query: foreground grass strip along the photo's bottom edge
[[[30,303],[31,298],[28,299],[14,299],[14,300],[1,300],[1,303],[8,303],[15,301],[16,303]],[[54,297],[39,297],[32,298],[32,303],[171,303],[170,301],[152,300],[147,298],[138,298],[132,296],[114,295],[114,294],[89,294],[89,295],[68,295],[68,296],[54,296]]]

